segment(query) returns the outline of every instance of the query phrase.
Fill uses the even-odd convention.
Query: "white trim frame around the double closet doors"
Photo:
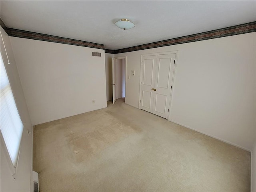
[[[170,104],[169,104],[169,114],[167,120],[170,121],[170,114],[171,114],[171,107],[172,107],[172,95],[175,90],[175,74],[176,74],[176,68],[178,64],[178,51],[168,51],[168,52],[158,52],[158,53],[149,53],[149,54],[141,54],[140,55],[140,83],[142,82],[142,62],[144,56],[153,56],[153,55],[166,55],[166,54],[176,54],[175,55],[175,64],[174,64],[174,74],[172,78],[172,91],[170,96]],[[140,98],[141,98],[141,84],[140,84],[140,92],[139,92],[139,109],[140,109]]]

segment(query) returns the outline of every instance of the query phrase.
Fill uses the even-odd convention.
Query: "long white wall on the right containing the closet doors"
[[[141,54],[178,50],[170,120],[246,150],[255,139],[255,33],[115,54],[127,56],[126,103],[139,106]],[[135,76],[131,76],[135,70]]]

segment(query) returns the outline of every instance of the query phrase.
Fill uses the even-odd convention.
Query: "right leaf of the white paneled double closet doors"
[[[158,55],[154,82],[152,113],[168,118],[176,54]]]

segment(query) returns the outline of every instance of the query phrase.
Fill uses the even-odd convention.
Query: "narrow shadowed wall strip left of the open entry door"
[[[112,100],[112,58],[114,54],[105,53],[105,67],[106,67],[106,92],[107,101]]]

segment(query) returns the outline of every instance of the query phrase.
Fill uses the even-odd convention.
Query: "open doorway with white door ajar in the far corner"
[[[120,98],[126,103],[126,57],[112,58],[113,104]]]

